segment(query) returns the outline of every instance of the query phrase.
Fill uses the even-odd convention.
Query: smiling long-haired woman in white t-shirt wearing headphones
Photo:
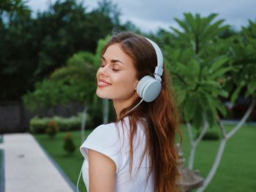
[[[178,115],[162,63],[159,47],[137,34],[116,34],[105,45],[97,96],[112,99],[117,120],[80,147],[89,192],[178,191]]]

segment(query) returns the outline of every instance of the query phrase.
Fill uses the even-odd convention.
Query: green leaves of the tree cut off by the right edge
[[[242,88],[246,88],[245,96],[256,99],[256,23],[249,20],[249,26],[243,28],[242,35],[233,38],[231,55],[233,59],[233,83],[236,90],[232,101],[236,101]]]

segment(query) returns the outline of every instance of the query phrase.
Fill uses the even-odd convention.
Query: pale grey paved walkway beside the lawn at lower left
[[[5,192],[72,192],[59,170],[31,134],[5,134]]]

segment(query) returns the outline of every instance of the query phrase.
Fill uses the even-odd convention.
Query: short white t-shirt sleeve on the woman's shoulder
[[[121,147],[118,139],[118,132],[115,126],[102,125],[94,129],[89,134],[86,141],[80,147],[80,152],[88,161],[88,150],[95,150],[103,155],[108,156],[116,164],[116,172],[121,167]]]

